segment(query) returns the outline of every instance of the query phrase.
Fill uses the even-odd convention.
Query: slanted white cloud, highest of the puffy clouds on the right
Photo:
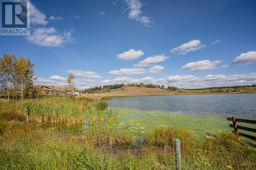
[[[204,48],[205,45],[201,43],[200,40],[191,40],[189,42],[186,42],[180,46],[177,46],[171,50],[172,53],[178,53],[178,54],[187,54],[189,52],[194,52],[197,50],[200,50]]]

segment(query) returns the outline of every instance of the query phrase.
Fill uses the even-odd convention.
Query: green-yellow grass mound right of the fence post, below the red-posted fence
[[[183,169],[254,169],[256,149],[230,132],[182,148]]]

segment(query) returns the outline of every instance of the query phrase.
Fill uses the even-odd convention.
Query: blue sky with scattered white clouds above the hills
[[[30,58],[35,84],[183,88],[256,84],[255,1],[31,1],[30,36],[0,53]]]

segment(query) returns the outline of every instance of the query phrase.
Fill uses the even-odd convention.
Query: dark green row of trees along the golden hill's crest
[[[145,83],[128,83],[128,84],[109,84],[109,85],[103,85],[103,86],[95,86],[95,87],[91,87],[91,88],[86,88],[84,90],[82,90],[82,93],[95,93],[95,92],[99,92],[101,90],[104,91],[110,91],[112,89],[118,89],[124,87],[124,86],[133,86],[133,87],[146,87],[146,88],[161,88],[161,89],[165,89],[167,91],[178,91],[178,87],[175,86],[167,86],[166,88],[164,87],[164,85],[158,85],[158,84],[145,84]]]

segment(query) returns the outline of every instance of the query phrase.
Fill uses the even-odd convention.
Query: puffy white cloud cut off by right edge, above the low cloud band
[[[256,51],[242,53],[240,56],[238,56],[236,59],[234,59],[234,61],[231,63],[231,65],[234,65],[234,64],[247,65],[252,62],[256,62]]]

